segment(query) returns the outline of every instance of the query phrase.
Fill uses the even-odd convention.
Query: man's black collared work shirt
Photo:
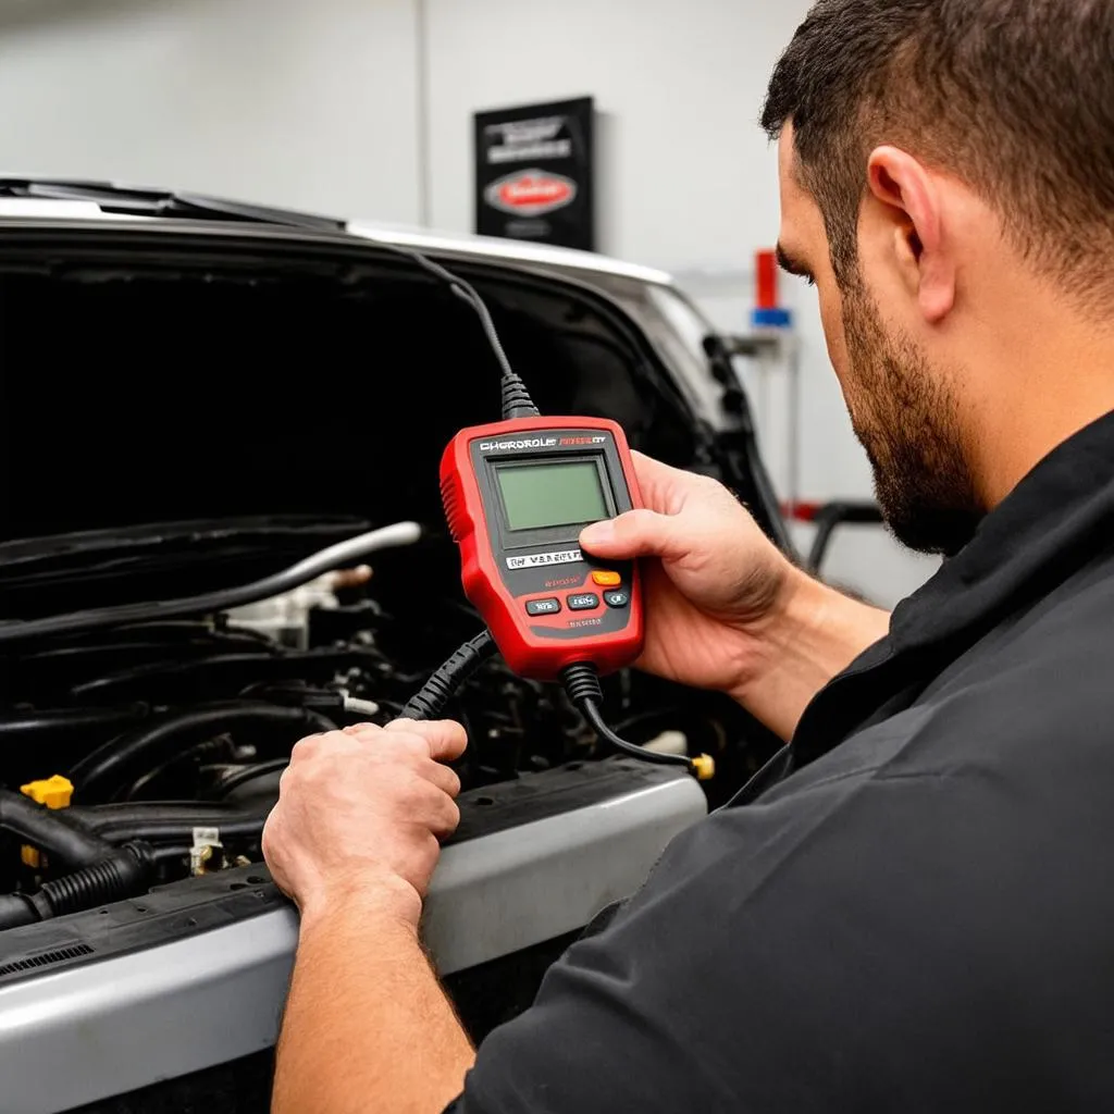
[[[1114,1110],[1114,414],[569,949],[450,1110]]]

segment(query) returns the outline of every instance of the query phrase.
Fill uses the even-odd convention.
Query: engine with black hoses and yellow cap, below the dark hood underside
[[[6,658],[0,928],[260,861],[294,743],[389,722],[480,629],[447,551],[383,554],[248,607]],[[727,776],[761,754],[737,745],[751,725],[725,698],[629,672],[605,688],[610,721],[633,742],[716,754]],[[607,758],[560,686],[524,681],[498,656],[447,714],[468,730],[466,792]]]

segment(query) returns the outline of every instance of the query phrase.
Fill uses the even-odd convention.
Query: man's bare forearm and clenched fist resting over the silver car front
[[[438,837],[459,821],[455,723],[303,740],[263,850],[302,928],[274,1114],[437,1114],[473,1061],[418,942]]]

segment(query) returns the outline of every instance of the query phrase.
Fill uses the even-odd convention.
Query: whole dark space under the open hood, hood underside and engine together
[[[260,862],[294,743],[389,722],[480,629],[436,475],[456,429],[495,412],[482,336],[392,261],[358,266],[333,248],[295,265],[289,251],[266,266],[258,247],[250,265],[227,247],[173,267],[134,247],[126,263],[104,250],[49,268],[0,261],[4,320],[21,322],[0,334],[4,466],[20,476],[4,489],[3,616],[227,587],[402,515],[424,530],[250,607],[0,646],[0,929]],[[634,447],[716,470],[614,307],[557,283],[471,277],[545,411],[618,418]],[[72,328],[47,330],[59,314]],[[66,375],[13,371],[32,351]],[[29,416],[47,411],[45,439]],[[624,737],[715,758],[713,805],[773,750],[719,694],[634,671],[604,688]],[[458,772],[480,809],[486,786],[610,758],[558,685],[498,657],[447,714],[468,730]]]

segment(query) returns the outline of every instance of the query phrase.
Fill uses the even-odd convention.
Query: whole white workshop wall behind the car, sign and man
[[[0,0],[0,165],[468,233],[472,116],[595,98],[600,251],[750,328],[778,235],[755,120],[810,0]],[[815,294],[783,277],[791,360],[740,362],[783,499],[870,498]],[[798,526],[807,546],[811,527]],[[892,604],[935,561],[877,527],[829,579]]]

